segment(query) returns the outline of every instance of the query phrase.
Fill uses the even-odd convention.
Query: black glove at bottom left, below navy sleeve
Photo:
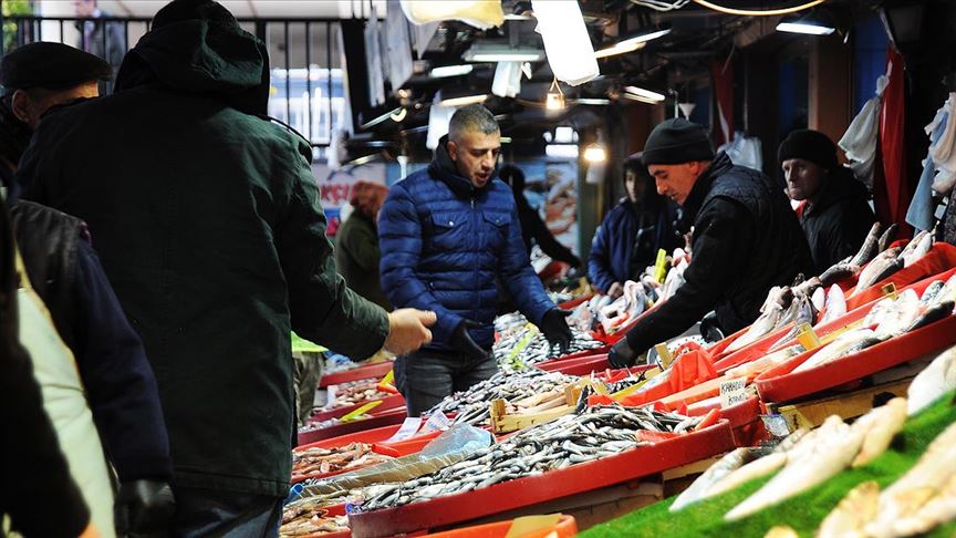
[[[176,513],[176,500],[165,482],[129,480],[119,484],[113,513],[117,536],[165,536]]]

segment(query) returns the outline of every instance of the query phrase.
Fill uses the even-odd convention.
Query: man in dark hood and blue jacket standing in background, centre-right
[[[624,162],[626,197],[614,206],[594,234],[588,258],[588,278],[600,292],[617,298],[624,282],[636,280],[654,265],[657,250],[668,254],[684,241],[674,230],[677,209],[657,194],[654,177],[641,154]]]

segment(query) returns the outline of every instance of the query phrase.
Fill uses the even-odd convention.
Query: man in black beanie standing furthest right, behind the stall
[[[836,145],[819,131],[793,131],[780,144],[778,157],[787,195],[802,201],[797,215],[820,275],[866,240],[876,220],[866,187],[840,166]]]

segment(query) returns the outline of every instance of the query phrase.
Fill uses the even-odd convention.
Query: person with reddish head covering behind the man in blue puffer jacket
[[[352,291],[392,310],[378,278],[378,210],[388,196],[388,187],[378,183],[357,182],[352,187],[352,213],[335,232],[335,265]],[[364,358],[356,358],[364,359]]]

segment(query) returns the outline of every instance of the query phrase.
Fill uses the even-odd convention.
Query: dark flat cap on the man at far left
[[[103,59],[62,43],[39,41],[10,51],[0,61],[0,84],[8,91],[62,90],[110,77]]]

